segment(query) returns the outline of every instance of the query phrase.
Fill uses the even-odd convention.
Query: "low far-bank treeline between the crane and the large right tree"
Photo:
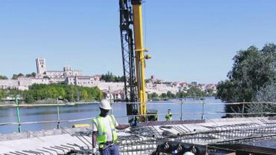
[[[167,100],[172,98],[184,98],[184,97],[206,97],[206,96],[214,96],[213,90],[208,89],[206,92],[201,91],[199,88],[191,87],[189,90],[187,90],[187,93],[184,91],[177,92],[176,94],[173,94],[171,91],[167,91],[167,93],[162,93],[161,95],[158,95],[157,93],[148,93],[148,99],[149,100]]]

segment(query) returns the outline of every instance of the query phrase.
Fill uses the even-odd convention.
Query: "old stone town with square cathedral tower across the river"
[[[12,79],[1,78],[0,88],[3,90],[29,90],[33,85],[56,85],[65,84],[66,86],[80,86],[82,88],[96,88],[104,93],[106,98],[112,100],[125,99],[125,83],[119,76],[115,80],[114,75],[108,73],[106,75],[83,75],[82,70],[74,70],[70,65],[66,65],[62,70],[48,70],[48,62],[45,58],[38,57],[35,59],[36,73],[28,75],[18,74],[13,75]],[[178,94],[196,91],[203,95],[216,93],[217,84],[203,84],[196,81],[167,81],[156,78],[151,75],[151,78],[146,79],[147,94]],[[59,85],[61,86],[61,85]],[[191,93],[190,93],[191,94]]]

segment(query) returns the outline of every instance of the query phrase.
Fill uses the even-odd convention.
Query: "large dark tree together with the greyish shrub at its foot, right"
[[[255,46],[240,50],[233,60],[232,70],[227,74],[228,80],[218,83],[218,98],[228,103],[276,101],[275,44],[265,44],[261,50]],[[241,112],[241,106],[228,105],[225,110],[228,113]],[[263,107],[248,105],[245,112],[257,112],[261,109],[263,110]],[[272,107],[270,111],[273,112],[276,109]]]

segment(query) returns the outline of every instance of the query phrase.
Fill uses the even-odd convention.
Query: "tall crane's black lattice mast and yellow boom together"
[[[142,116],[146,114],[145,59],[150,56],[144,55],[141,0],[119,0],[119,6],[127,115],[138,114],[137,105],[128,102],[139,101]]]

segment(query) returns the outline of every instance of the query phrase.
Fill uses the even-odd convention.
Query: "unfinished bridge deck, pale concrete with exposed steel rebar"
[[[225,153],[235,153],[238,149],[252,150],[249,147],[276,154],[275,133],[274,117],[158,121],[139,123],[137,127],[118,132],[118,145],[121,155],[158,154],[157,148],[165,142],[177,142],[189,147],[196,145],[205,148],[205,153],[209,155],[218,155],[216,152],[222,154],[218,150],[228,150]],[[91,128],[1,134],[0,154],[91,154],[91,134]],[[235,145],[239,147],[233,147]],[[163,150],[163,153],[169,152]]]

